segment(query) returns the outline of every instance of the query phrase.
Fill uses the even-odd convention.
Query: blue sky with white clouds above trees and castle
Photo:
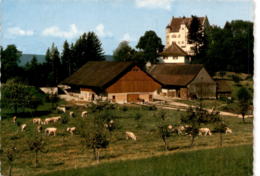
[[[223,26],[235,19],[254,20],[253,0],[0,0],[1,45],[23,53],[44,54],[54,42],[61,50],[83,32],[94,31],[105,54],[122,40],[135,46],[147,30],[163,43],[172,16],[205,16]]]

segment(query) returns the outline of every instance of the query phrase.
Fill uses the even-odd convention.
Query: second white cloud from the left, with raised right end
[[[73,38],[79,34],[76,24],[70,25],[69,31],[62,31],[58,26],[51,26],[42,31],[44,36],[61,37],[61,38]]]

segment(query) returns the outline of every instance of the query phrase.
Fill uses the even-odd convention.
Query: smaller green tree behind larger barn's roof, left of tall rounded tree
[[[134,50],[129,46],[128,41],[122,41],[113,52],[115,61],[133,61]]]

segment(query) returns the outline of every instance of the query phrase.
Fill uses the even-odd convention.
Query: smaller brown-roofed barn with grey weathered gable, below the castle
[[[216,98],[216,83],[201,64],[153,65],[148,72],[162,84],[159,92],[182,99]]]

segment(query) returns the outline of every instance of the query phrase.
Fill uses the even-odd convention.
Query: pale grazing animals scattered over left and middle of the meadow
[[[57,110],[60,111],[60,112],[63,112],[63,113],[66,113],[66,107],[60,107],[58,106],[57,107]],[[81,117],[84,118],[84,117],[87,117],[87,114],[88,112],[87,111],[83,111],[81,113]],[[73,111],[70,111],[69,112],[69,115],[70,117],[74,117],[74,112]],[[13,123],[16,123],[16,120],[17,120],[17,117],[14,116],[13,117]],[[44,120],[42,120],[41,118],[33,118],[32,119],[32,123],[35,124],[35,125],[38,125],[37,126],[37,131],[39,133],[41,133],[43,131],[43,125],[47,125],[47,124],[50,124],[50,123],[57,123],[58,121],[61,120],[61,116],[55,116],[55,117],[49,117],[49,118],[45,118]],[[108,123],[105,123],[104,124],[104,127],[105,128],[109,128],[111,127],[112,125],[114,124],[114,121],[113,120],[110,120]],[[25,131],[25,129],[27,128],[27,124],[21,124],[21,131]],[[66,129],[66,131],[68,133],[70,133],[71,135],[74,135],[75,131],[76,131],[76,127],[68,127]],[[56,127],[48,127],[48,128],[45,128],[44,130],[44,133],[45,135],[47,136],[56,136],[57,134],[57,128]],[[136,135],[131,132],[131,131],[126,131],[125,132],[125,135],[126,135],[126,139],[132,139],[134,141],[136,141]]]

